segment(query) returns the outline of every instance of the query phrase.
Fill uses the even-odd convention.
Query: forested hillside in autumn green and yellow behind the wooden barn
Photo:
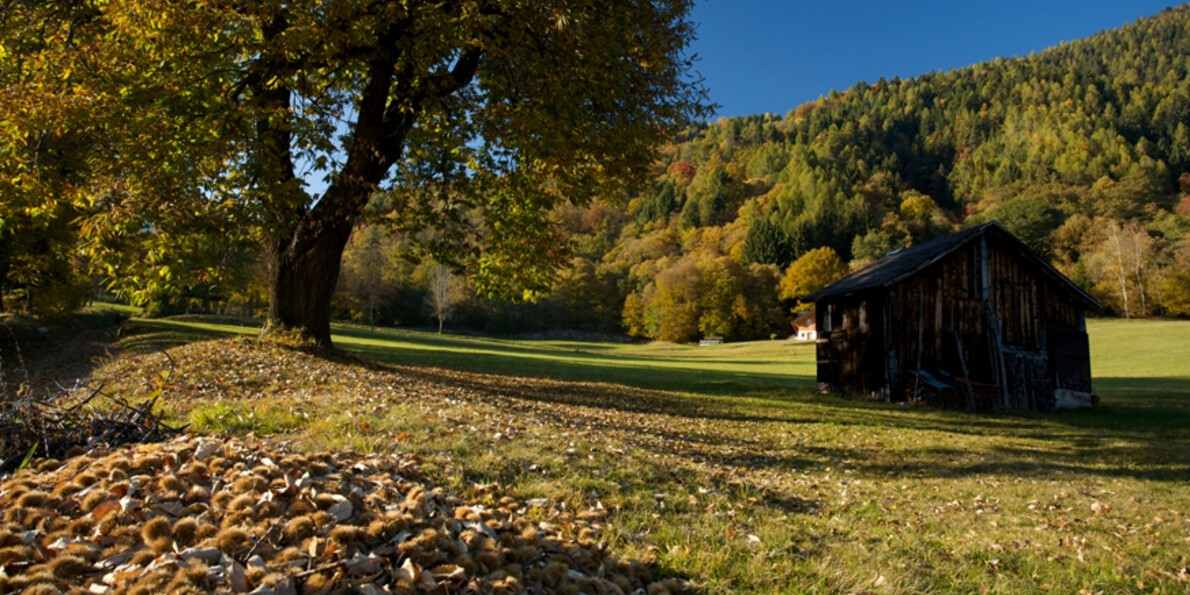
[[[1184,6],[1027,57],[691,124],[660,151],[652,188],[558,213],[575,256],[552,295],[471,299],[458,322],[785,336],[798,280],[778,280],[812,249],[856,268],[990,219],[1113,314],[1190,315],[1188,124]],[[349,255],[364,252],[357,242]],[[394,278],[389,290],[409,287]],[[415,309],[407,296],[386,318]]]

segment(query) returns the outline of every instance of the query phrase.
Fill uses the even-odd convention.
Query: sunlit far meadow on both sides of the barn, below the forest
[[[194,340],[256,336],[250,319],[175,317],[125,322],[123,345],[150,351]],[[1088,321],[1096,392],[1106,405],[1178,407],[1190,396],[1190,321]],[[461,371],[622,383],[679,393],[749,395],[814,387],[814,344],[768,340],[672,343],[516,340],[334,325],[338,349],[370,359]]]

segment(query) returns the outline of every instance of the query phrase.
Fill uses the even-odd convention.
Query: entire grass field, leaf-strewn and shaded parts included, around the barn
[[[1185,593],[1190,324],[1089,330],[1102,406],[1052,415],[818,396],[788,342],[337,327],[381,363],[238,342],[169,364],[154,350],[255,330],[133,320],[145,355],[106,374],[176,368],[169,407],[203,432],[409,451],[463,495],[606,508],[609,547],[704,593]]]

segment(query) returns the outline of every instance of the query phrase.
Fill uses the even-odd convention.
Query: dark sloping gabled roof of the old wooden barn
[[[807,302],[819,301],[825,298],[834,298],[838,295],[854,294],[894,286],[929,267],[931,264],[945,258],[947,255],[954,252],[967,242],[984,234],[996,234],[1007,240],[1023,256],[1036,262],[1038,269],[1041,274],[1053,278],[1058,282],[1058,284],[1070,289],[1070,292],[1085,302],[1088,307],[1096,309],[1103,307],[1102,303],[1095,301],[1095,299],[1090,295],[1086,295],[1085,292],[1066,278],[1065,275],[1051,267],[1050,263],[1033,252],[1033,250],[1029,250],[1023,242],[1009,233],[1008,230],[1001,227],[1001,225],[996,221],[989,221],[978,227],[971,227],[958,233],[952,233],[945,238],[938,238],[915,246],[890,252],[884,256],[884,258],[881,258],[879,261],[876,261],[872,264],[807,295],[803,300]]]

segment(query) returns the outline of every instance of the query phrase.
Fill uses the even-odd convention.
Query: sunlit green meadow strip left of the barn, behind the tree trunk
[[[151,351],[232,334],[255,336],[258,331],[246,320],[203,320],[136,319],[130,321],[123,344],[133,351]],[[771,394],[804,392],[814,386],[814,344],[787,340],[699,347],[511,340],[392,328],[371,332],[336,325],[334,344],[369,359],[402,365],[615,382],[675,392]]]

